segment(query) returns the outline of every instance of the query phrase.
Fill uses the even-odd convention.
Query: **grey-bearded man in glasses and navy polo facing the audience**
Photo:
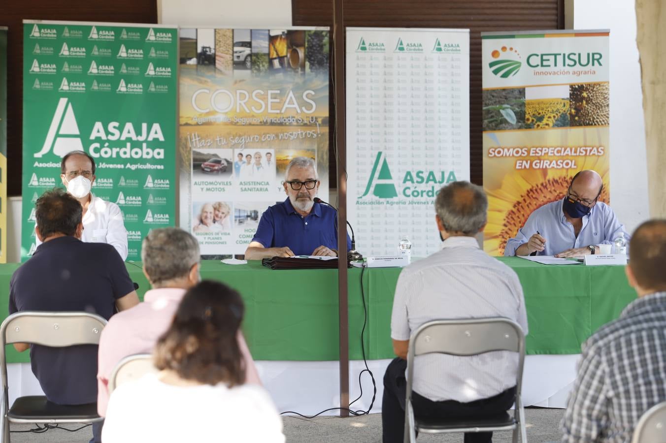
[[[319,190],[314,160],[296,157],[287,165],[284,192],[288,198],[261,216],[245,251],[248,260],[292,255],[338,255],[338,214],[314,202]],[[352,247],[347,235],[347,250]],[[346,251],[345,251],[346,252]]]

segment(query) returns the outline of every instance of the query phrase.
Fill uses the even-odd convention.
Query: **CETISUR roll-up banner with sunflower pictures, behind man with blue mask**
[[[535,209],[576,172],[609,203],[609,31],[482,33],[484,249],[503,254]]]

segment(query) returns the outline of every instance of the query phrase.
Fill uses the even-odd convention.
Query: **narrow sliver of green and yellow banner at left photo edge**
[[[7,27],[0,26],[0,263],[7,263]]]

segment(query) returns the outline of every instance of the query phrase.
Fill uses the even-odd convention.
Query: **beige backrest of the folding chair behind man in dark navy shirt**
[[[107,321],[87,312],[23,311],[10,315],[0,325],[0,372],[7,400],[5,345],[31,343],[50,347],[99,345]]]

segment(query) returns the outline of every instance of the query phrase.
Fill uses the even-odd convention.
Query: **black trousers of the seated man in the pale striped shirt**
[[[402,443],[405,434],[405,394],[407,382],[405,370],[407,361],[394,359],[384,374],[384,399],[382,400],[382,441],[384,443]],[[446,400],[434,402],[412,390],[414,416],[418,418],[450,417],[486,418],[501,414],[511,408],[515,400],[515,387],[500,394],[475,400],[469,403]],[[491,443],[492,432],[467,432],[465,443]]]

